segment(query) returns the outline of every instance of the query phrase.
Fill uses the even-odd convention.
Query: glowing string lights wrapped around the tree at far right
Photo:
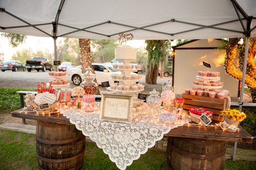
[[[238,44],[237,42],[233,41],[232,43],[227,44],[226,47],[226,55],[225,55],[225,63],[224,68],[227,74],[230,76],[242,80],[242,71],[237,69],[234,66],[235,55],[237,54]],[[256,89],[256,66],[254,64],[254,56],[256,52],[256,39],[251,39],[249,43],[248,49],[248,59],[247,59],[247,71],[245,76],[245,84],[248,86],[249,89]],[[244,64],[241,61],[240,66]]]

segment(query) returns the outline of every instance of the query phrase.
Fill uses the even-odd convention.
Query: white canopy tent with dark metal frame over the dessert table
[[[0,31],[22,35],[117,39],[207,39],[256,36],[255,0],[0,0]],[[242,95],[241,95],[242,96]],[[239,101],[240,110],[242,97]],[[234,155],[233,155],[234,159]]]

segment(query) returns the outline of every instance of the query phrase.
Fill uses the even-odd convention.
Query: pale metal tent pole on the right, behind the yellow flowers
[[[249,50],[249,40],[250,37],[246,37],[245,43],[245,56],[244,56],[244,66],[242,67],[242,84],[241,84],[241,93],[239,100],[239,111],[242,112],[242,104],[244,99],[244,91],[245,91],[245,76],[246,76],[246,67],[247,67],[247,58],[248,58],[248,50]],[[237,142],[234,142],[234,150],[233,150],[233,161],[235,160],[235,153],[237,152]]]

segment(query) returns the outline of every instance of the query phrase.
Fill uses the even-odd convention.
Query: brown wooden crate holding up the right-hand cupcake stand
[[[183,108],[188,111],[191,106],[205,107],[209,111],[213,112],[213,120],[223,121],[223,117],[219,117],[220,111],[228,108],[228,99],[210,98],[204,96],[196,96],[190,94],[182,94],[182,98],[185,100]]]

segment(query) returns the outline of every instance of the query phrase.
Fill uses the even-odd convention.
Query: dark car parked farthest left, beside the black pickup
[[[8,62],[3,62],[0,65],[0,70],[5,71],[5,70],[11,70],[11,71],[26,71],[26,67],[24,64],[18,61],[8,61]]]

